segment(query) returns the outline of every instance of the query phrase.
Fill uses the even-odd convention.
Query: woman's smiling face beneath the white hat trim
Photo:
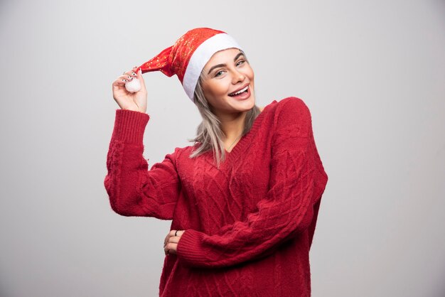
[[[254,72],[239,49],[215,53],[203,71],[203,92],[217,117],[254,107]]]

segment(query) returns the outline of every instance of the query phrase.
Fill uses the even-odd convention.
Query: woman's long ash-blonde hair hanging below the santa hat
[[[218,119],[212,112],[210,104],[208,104],[207,99],[205,99],[202,85],[204,79],[205,73],[202,71],[195,87],[193,99],[195,100],[195,104],[198,107],[201,117],[203,117],[203,121],[201,121],[198,129],[196,129],[196,137],[189,140],[195,143],[200,143],[200,146],[191,153],[190,158],[195,158],[207,151],[213,150],[213,159],[219,167],[220,162],[225,160],[225,147],[223,141],[225,135],[223,130],[221,130],[220,119]],[[242,136],[250,131],[250,128],[252,128],[252,124],[259,113],[260,111],[256,104],[252,109],[247,111]]]

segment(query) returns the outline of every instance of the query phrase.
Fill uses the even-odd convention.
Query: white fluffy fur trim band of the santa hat
[[[190,61],[188,61],[186,73],[184,73],[183,79],[183,88],[186,90],[187,96],[192,101],[194,101],[193,95],[195,93],[196,84],[198,83],[198,78],[205,64],[208,63],[208,60],[212,58],[214,53],[227,48],[242,49],[231,36],[227,35],[226,33],[219,33],[201,43],[193,52]]]

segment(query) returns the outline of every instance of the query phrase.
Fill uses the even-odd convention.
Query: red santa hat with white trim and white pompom
[[[193,100],[196,84],[201,71],[212,55],[219,50],[240,48],[240,45],[227,33],[211,28],[195,28],[181,36],[174,45],[161,51],[137,68],[142,73],[161,71],[171,77],[177,75],[187,96]],[[125,85],[129,92],[140,90],[139,81],[132,80]],[[132,85],[136,88],[132,89]]]

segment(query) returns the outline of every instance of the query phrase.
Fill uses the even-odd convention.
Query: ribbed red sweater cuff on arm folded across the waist
[[[181,235],[181,239],[179,239],[178,246],[176,247],[178,259],[191,266],[200,266],[200,263],[205,262],[203,251],[200,249],[202,238],[202,232],[187,229]]]

